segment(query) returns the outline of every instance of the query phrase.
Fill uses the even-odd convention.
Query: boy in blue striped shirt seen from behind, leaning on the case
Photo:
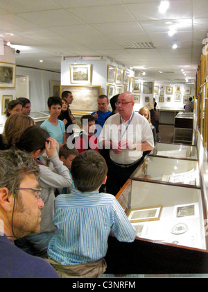
[[[99,277],[112,232],[123,242],[135,240],[136,230],[113,195],[99,193],[107,179],[103,156],[94,150],[76,156],[71,165],[76,189],[55,200],[53,224],[58,228],[49,243],[49,263],[61,277]]]

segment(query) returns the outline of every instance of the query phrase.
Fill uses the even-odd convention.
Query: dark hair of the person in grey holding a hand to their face
[[[49,133],[37,126],[29,127],[19,138],[16,143],[18,149],[24,150],[28,153],[35,152],[37,150],[44,151],[46,140],[50,137]]]

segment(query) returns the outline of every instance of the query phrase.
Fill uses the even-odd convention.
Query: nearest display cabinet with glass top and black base
[[[107,273],[208,273],[207,212],[201,188],[129,179],[116,199],[137,230],[110,236]]]

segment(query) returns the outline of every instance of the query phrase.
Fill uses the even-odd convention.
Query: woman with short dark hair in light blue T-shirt
[[[62,147],[62,145],[67,143],[64,122],[58,120],[58,116],[62,110],[62,100],[59,97],[49,97],[48,106],[50,117],[48,120],[45,120],[40,127],[48,131],[50,137],[57,140],[60,147]]]

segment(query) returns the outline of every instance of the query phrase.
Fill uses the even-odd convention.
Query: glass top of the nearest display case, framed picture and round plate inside
[[[137,238],[207,250],[200,188],[129,180],[116,198],[137,229]]]

